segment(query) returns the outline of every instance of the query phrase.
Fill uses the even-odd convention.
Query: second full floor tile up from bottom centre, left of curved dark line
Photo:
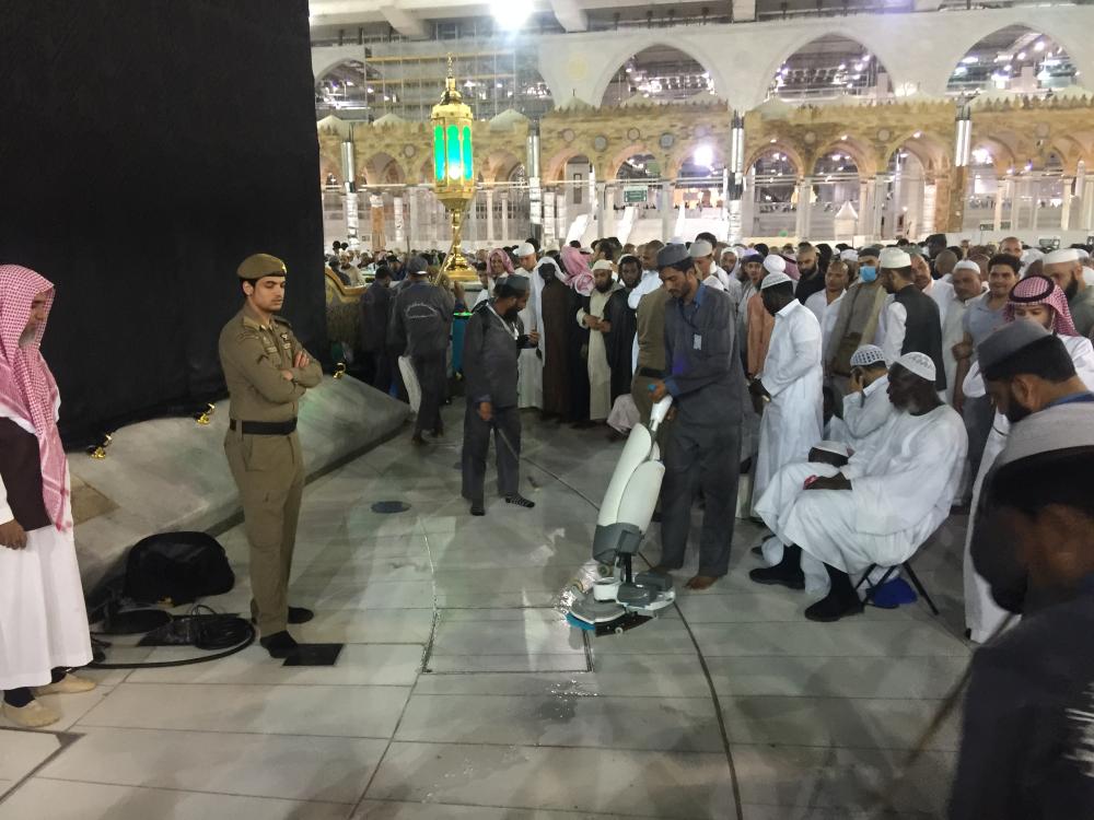
[[[397,740],[722,750],[713,705],[698,698],[605,698],[559,691],[533,695],[410,698]]]

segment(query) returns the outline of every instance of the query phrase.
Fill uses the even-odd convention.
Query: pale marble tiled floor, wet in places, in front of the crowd
[[[909,750],[968,663],[953,519],[917,570],[942,608],[802,618],[803,593],[730,574],[666,617],[592,639],[557,604],[590,567],[620,444],[525,417],[532,511],[474,518],[458,497],[461,429],[388,442],[311,484],[292,600],[298,639],[345,642],[334,667],[283,667],[257,646],[162,669],[91,672],[51,698],[63,721],[0,718],[0,820],[840,820],[944,812],[956,718]],[[404,501],[399,514],[371,511]],[[590,501],[592,500],[592,502]],[[240,583],[208,602],[245,611]],[[656,534],[645,554],[656,558]],[[688,577],[678,574],[678,587]],[[119,647],[114,660],[166,660]],[[900,778],[897,782],[897,778]]]

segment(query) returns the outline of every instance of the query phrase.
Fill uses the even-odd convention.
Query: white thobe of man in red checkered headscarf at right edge
[[[1075,365],[1078,375],[1086,389],[1094,390],[1094,345],[1091,340],[1082,336],[1061,336],[1063,342],[1071,354],[1071,361]],[[984,376],[980,374],[980,363],[973,362],[973,366],[962,385],[965,395],[979,398],[986,395]],[[984,456],[980,458],[980,469],[977,470],[976,480],[973,482],[973,515],[976,515],[977,506],[980,503],[980,489],[984,487],[984,479],[988,475],[999,454],[1006,445],[1006,436],[1011,431],[1011,423],[1002,413],[996,413],[991,422],[991,432],[988,441],[984,445]],[[984,643],[999,629],[999,625],[1009,614],[1006,610],[996,604],[991,597],[991,587],[973,566],[973,555],[970,547],[973,544],[973,518],[969,518],[968,527],[965,531],[965,625],[971,632],[971,640],[976,643]]]

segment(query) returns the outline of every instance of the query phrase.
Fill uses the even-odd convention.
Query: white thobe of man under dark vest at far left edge
[[[34,425],[0,408],[28,433]],[[66,477],[66,487],[69,484]],[[66,504],[66,518],[71,509]],[[0,480],[0,522],[15,516]],[[43,687],[56,667],[91,663],[88,613],[72,529],[53,525],[26,534],[26,547],[0,547],[0,690]]]

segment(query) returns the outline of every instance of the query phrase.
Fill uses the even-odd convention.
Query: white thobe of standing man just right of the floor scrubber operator
[[[771,400],[760,418],[754,499],[764,494],[779,468],[804,461],[813,445],[821,441],[823,382],[821,324],[794,300],[775,316],[771,344],[764,363],[763,383]]]

